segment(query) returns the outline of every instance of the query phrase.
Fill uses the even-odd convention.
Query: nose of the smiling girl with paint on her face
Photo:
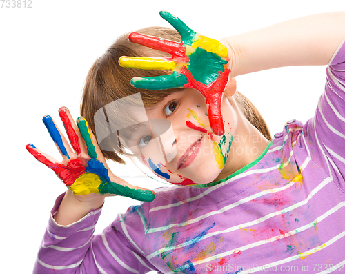
[[[159,147],[166,164],[177,155],[175,133],[167,119],[150,119],[152,138],[159,140]]]

